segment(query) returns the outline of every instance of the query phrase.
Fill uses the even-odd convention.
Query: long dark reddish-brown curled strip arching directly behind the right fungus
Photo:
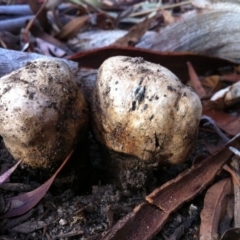
[[[210,69],[233,65],[227,60],[194,53],[162,53],[135,47],[114,46],[76,53],[67,59],[78,62],[80,67],[99,68],[107,58],[113,56],[141,56],[146,61],[158,63],[168,68],[183,82],[189,79],[186,62],[191,62],[199,75],[205,74]]]

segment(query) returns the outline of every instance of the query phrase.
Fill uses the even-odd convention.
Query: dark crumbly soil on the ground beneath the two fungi
[[[186,163],[163,167],[154,173],[155,181],[146,188],[131,191],[108,182],[101,167],[103,157],[100,147],[89,133],[86,143],[89,147],[84,146],[75,151],[40,203],[23,216],[2,220],[0,239],[98,239],[105,230],[143,202],[152,190],[189,168],[196,155],[206,154],[203,139],[210,142],[216,139],[214,134],[210,136],[199,134],[195,151]],[[76,161],[80,159],[90,164],[78,164],[80,167],[76,168]],[[15,160],[1,140],[1,173],[14,163]],[[1,185],[0,210],[3,197],[33,190],[50,176],[49,173],[24,165],[18,167],[9,181]],[[153,240],[198,239],[203,196],[198,196],[176,211]],[[25,225],[21,226],[22,223]]]

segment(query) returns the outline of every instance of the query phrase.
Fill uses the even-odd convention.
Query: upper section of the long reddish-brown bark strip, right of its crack
[[[235,140],[229,141],[214,156],[208,157],[181,173],[177,178],[155,189],[146,197],[146,200],[166,212],[174,211],[183,202],[191,200],[214,179],[217,172],[232,156],[227,147],[229,144],[236,144],[239,136],[240,134],[234,138]]]

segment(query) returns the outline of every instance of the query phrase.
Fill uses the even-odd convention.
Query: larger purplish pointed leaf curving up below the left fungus
[[[19,216],[19,215],[26,213],[30,209],[32,209],[46,194],[46,192],[50,188],[52,182],[56,178],[57,174],[65,166],[65,164],[71,157],[72,153],[73,153],[73,151],[71,151],[71,153],[64,160],[64,162],[58,168],[58,170],[54,173],[54,175],[47,182],[42,184],[40,187],[36,188],[35,190],[33,190],[31,192],[27,192],[27,193],[18,195],[16,197],[7,198],[6,205],[10,204],[10,209],[3,215],[0,215],[0,219]]]

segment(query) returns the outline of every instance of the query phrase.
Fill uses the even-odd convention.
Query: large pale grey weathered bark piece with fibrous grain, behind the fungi
[[[144,44],[163,52],[206,53],[239,61],[239,23],[239,4],[209,4],[182,15],[179,21],[161,29],[159,37],[149,38]]]

